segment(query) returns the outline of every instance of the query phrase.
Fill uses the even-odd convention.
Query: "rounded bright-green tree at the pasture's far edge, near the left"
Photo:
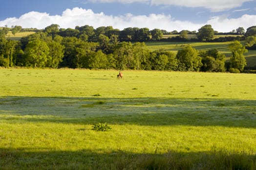
[[[28,42],[24,55],[26,66],[44,67],[49,59],[49,48],[46,42],[36,39]]]

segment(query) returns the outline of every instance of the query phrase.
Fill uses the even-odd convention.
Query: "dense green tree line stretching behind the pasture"
[[[19,31],[20,27],[16,29]],[[157,30],[149,32],[146,28],[127,28],[121,31],[123,32],[121,34],[111,26],[94,29],[85,25],[77,26],[75,29],[60,29],[57,24],[52,24],[42,32],[15,41],[6,39],[6,30],[2,29],[0,31],[0,66],[179,71],[226,71],[228,69],[239,72],[246,65],[243,54],[247,50],[239,41],[234,41],[229,46],[232,56],[228,64],[225,63],[226,56],[216,49],[197,51],[191,46],[186,46],[177,54],[162,50],[149,51],[143,40],[147,38],[157,40],[158,35],[162,33],[161,30]],[[255,36],[250,30],[247,29],[245,33],[250,34],[247,37]],[[210,40],[213,38],[212,35],[214,30],[211,25],[203,26],[197,33],[201,41]],[[136,41],[132,43],[131,40]]]

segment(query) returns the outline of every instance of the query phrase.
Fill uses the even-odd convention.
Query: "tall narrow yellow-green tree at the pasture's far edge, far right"
[[[242,71],[246,66],[244,53],[248,52],[247,49],[245,49],[239,41],[231,43],[229,49],[232,52],[232,56],[230,57],[231,68],[236,68],[239,71]]]

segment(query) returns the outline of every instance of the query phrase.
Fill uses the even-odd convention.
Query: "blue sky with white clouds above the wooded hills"
[[[90,25],[218,32],[256,25],[256,0],[1,0],[0,26]]]

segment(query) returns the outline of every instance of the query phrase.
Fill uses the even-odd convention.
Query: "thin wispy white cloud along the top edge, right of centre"
[[[150,3],[152,5],[175,5],[184,7],[203,7],[213,12],[225,11],[242,6],[244,2],[254,0],[88,0],[90,2],[101,3]]]

